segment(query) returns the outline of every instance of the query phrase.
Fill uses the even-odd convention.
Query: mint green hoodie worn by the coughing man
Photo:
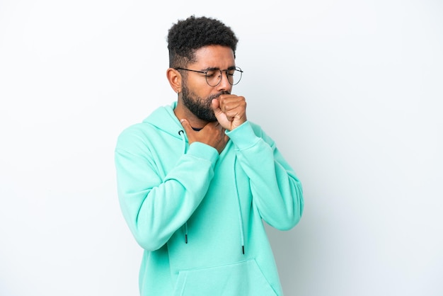
[[[115,166],[122,214],[144,249],[144,295],[282,295],[262,220],[299,222],[301,183],[258,125],[226,131],[223,152],[188,144],[176,102],[125,129]]]

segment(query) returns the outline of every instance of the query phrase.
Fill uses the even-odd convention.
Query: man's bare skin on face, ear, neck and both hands
[[[234,52],[230,47],[221,45],[209,45],[200,48],[196,52],[197,62],[190,63],[187,69],[204,71],[207,68],[228,69],[235,66]],[[185,81],[180,71],[169,68],[166,72],[169,84],[178,93],[178,103],[174,110],[178,120],[183,125],[188,135],[189,144],[202,142],[217,149],[221,153],[229,141],[225,130],[234,130],[246,121],[246,100],[243,96],[236,96],[231,93],[232,86],[225,74],[222,81],[217,86],[209,86],[205,79],[205,74],[187,72]],[[197,118],[183,103],[183,84],[189,91],[193,100],[210,100],[211,108],[217,121],[208,122]],[[201,128],[200,131],[192,129]]]

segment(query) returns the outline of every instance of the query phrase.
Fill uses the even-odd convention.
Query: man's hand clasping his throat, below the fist
[[[208,123],[200,131],[192,130],[188,120],[182,119],[180,123],[185,128],[189,144],[202,142],[214,147],[220,154],[229,141],[229,137],[224,133],[225,129],[217,121]]]

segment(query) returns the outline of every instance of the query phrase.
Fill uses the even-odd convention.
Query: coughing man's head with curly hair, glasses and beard
[[[169,83],[178,93],[178,108],[203,122],[216,121],[211,101],[231,93],[241,78],[236,68],[238,39],[214,18],[190,16],[168,33]]]

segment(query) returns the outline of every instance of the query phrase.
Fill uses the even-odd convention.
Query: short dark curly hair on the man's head
[[[236,56],[238,39],[234,32],[214,18],[190,16],[168,31],[169,67],[186,67],[195,62],[195,50],[207,45],[231,47]]]

